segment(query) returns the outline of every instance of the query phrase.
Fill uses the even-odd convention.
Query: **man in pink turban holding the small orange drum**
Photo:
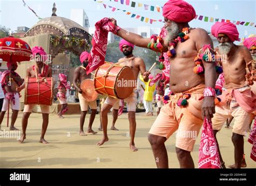
[[[91,74],[86,74],[86,67],[88,65],[88,55],[89,53],[83,52],[80,55],[80,61],[82,63],[81,66],[77,67],[74,71],[74,78],[73,78],[73,84],[75,88],[78,90],[78,98],[79,98],[79,103],[80,103],[80,108],[81,108],[81,116],[80,116],[80,131],[79,135],[85,136],[86,134],[84,133],[84,120],[85,116],[88,110],[88,105],[91,108],[91,116],[90,116],[90,121],[89,121],[89,126],[87,128],[87,133],[92,133],[92,134],[97,134],[97,132],[92,130],[92,123],[95,119],[96,112],[97,112],[97,102],[96,100],[93,102],[87,102],[85,98],[82,96],[82,89],[80,89],[80,86],[77,84],[77,81],[79,84],[81,84],[85,79],[90,79]]]

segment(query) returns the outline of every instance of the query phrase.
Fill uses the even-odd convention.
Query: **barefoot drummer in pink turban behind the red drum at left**
[[[47,54],[44,52],[42,47],[35,46],[32,48],[33,57],[36,60],[36,65],[28,67],[26,69],[26,76],[28,77],[52,77],[52,69],[44,62],[47,60]],[[28,119],[34,108],[35,104],[28,104],[24,105],[23,110],[23,117],[22,117],[22,136],[19,139],[19,142],[23,142],[26,139],[26,126],[28,126]],[[42,132],[39,142],[43,144],[48,144],[48,141],[44,139],[44,134],[47,130],[48,123],[49,123],[49,112],[50,106],[49,105],[40,105],[42,117],[43,117],[43,124],[42,124]]]

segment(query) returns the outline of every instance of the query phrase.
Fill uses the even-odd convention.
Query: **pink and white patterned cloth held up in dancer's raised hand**
[[[87,75],[99,68],[105,62],[107,50],[107,34],[112,32],[117,34],[121,28],[112,24],[111,19],[105,17],[95,24],[95,34],[92,38],[92,49],[88,56],[88,65],[86,67]]]

